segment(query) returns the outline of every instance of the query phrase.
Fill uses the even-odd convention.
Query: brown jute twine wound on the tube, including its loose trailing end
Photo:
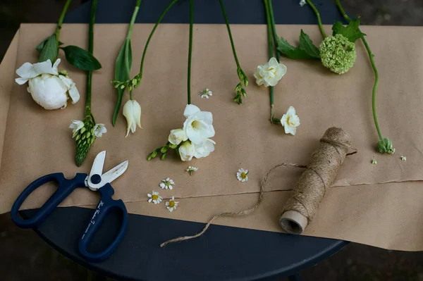
[[[246,216],[252,213],[260,206],[260,204],[262,204],[264,186],[266,185],[267,178],[273,170],[281,166],[307,168],[298,180],[297,185],[293,190],[293,194],[286,202],[283,211],[298,211],[302,213],[303,216],[305,216],[309,221],[311,221],[317,212],[319,203],[326,193],[326,190],[329,189],[329,187],[332,185],[336,173],[341,167],[345,156],[347,155],[347,151],[350,148],[351,139],[347,132],[341,128],[329,128],[324,133],[324,136],[320,139],[319,149],[312,155],[312,162],[308,167],[295,163],[280,163],[272,167],[266,173],[266,175],[264,175],[262,182],[260,182],[259,199],[254,206],[238,212],[218,213],[211,220],[209,220],[202,231],[198,232],[196,235],[171,239],[160,244],[160,246],[164,247],[169,243],[200,237],[204,234],[204,232],[207,231],[207,229],[209,229],[209,226],[213,223],[214,220],[216,220],[216,218],[223,216]]]

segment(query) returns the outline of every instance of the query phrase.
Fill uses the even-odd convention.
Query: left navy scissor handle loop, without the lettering
[[[42,221],[49,216],[49,214],[65,199],[73,190],[77,187],[85,187],[85,178],[87,174],[77,173],[75,177],[71,180],[66,179],[63,173],[53,173],[49,175],[44,175],[44,177],[39,177],[37,180],[33,181],[28,185],[23,192],[18,196],[15,203],[13,203],[11,209],[12,220],[18,227],[23,228],[32,228],[37,227]],[[18,211],[20,206],[23,204],[23,201],[27,199],[35,189],[41,187],[47,182],[57,182],[59,187],[56,192],[50,196],[50,198],[44,203],[44,205],[39,208],[39,211],[27,220],[23,220],[18,217]]]

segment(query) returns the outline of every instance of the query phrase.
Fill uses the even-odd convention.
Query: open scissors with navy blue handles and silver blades
[[[11,209],[12,220],[18,227],[22,228],[32,228],[37,227],[41,224],[44,219],[49,216],[49,214],[54,211],[54,209],[63,201],[69,194],[73,192],[74,189],[78,187],[88,187],[93,191],[98,191],[101,194],[101,199],[97,208],[94,211],[90,223],[88,223],[87,228],[85,229],[82,237],[78,244],[78,248],[81,256],[83,256],[87,261],[98,262],[103,261],[108,258],[111,253],[116,249],[118,244],[123,239],[125,235],[126,227],[128,226],[128,212],[126,211],[125,204],[121,199],[114,200],[111,196],[114,194],[114,189],[111,187],[110,182],[116,180],[120,175],[125,173],[125,170],[128,168],[128,161],[123,161],[118,166],[112,168],[106,173],[102,174],[104,160],[106,158],[106,151],[102,151],[94,159],[90,175],[85,173],[77,173],[73,179],[68,180],[63,175],[63,173],[53,173],[49,175],[44,175],[44,177],[39,177],[37,180],[28,185],[23,192],[18,196],[15,203]],[[18,211],[20,206],[23,204],[23,201],[29,196],[35,189],[44,185],[47,182],[57,182],[59,184],[58,189],[50,198],[44,203],[44,205],[39,208],[37,214],[32,218],[23,220],[18,217]],[[99,226],[102,224],[104,218],[106,218],[107,213],[120,210],[123,216],[121,230],[119,230],[118,235],[109,246],[107,246],[104,251],[100,253],[90,253],[87,251],[87,246],[90,243],[94,233],[97,231]]]

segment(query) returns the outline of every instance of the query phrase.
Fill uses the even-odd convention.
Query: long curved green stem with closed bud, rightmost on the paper
[[[339,0],[336,0],[336,6],[338,6],[340,13],[343,16],[343,18],[345,18],[345,20],[348,20],[349,22],[353,21],[345,13],[345,11],[344,11],[344,9],[341,5],[341,2]],[[359,32],[361,32],[359,27],[357,27],[357,30]],[[381,153],[394,154],[395,149],[393,148],[392,141],[391,141],[391,139],[388,139],[387,137],[382,136],[381,129],[379,127],[379,122],[377,120],[377,115],[376,115],[376,91],[377,91],[377,87],[379,85],[379,73],[377,71],[376,64],[374,63],[374,54],[372,53],[372,50],[370,49],[366,38],[364,38],[364,35],[361,37],[361,39],[362,39],[362,42],[364,44],[364,47],[366,48],[367,54],[369,54],[370,64],[372,65],[372,69],[373,69],[373,72],[374,72],[374,85],[373,85],[373,90],[372,90],[372,111],[373,111],[374,125],[376,126],[377,135],[379,136],[379,142],[377,142],[377,144],[376,144],[376,149],[377,149],[377,151],[379,151]]]

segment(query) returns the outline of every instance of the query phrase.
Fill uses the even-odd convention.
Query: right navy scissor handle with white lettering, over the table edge
[[[79,242],[79,251],[81,256],[86,258],[87,261],[91,262],[104,261],[106,258],[108,258],[123,239],[123,235],[125,235],[126,232],[126,227],[128,227],[128,211],[126,211],[125,204],[123,204],[123,201],[121,199],[114,200],[111,198],[111,196],[114,194],[113,187],[111,187],[111,185],[107,183],[106,185],[104,185],[104,187],[99,188],[98,191],[102,195],[102,198],[100,199],[99,204],[97,204],[97,208],[94,211],[94,215],[92,216],[90,223],[88,223],[88,226],[85,229],[85,232]],[[104,218],[106,218],[109,212],[114,211],[116,209],[120,209],[122,211],[123,216],[121,230],[119,230],[118,235],[116,235],[114,241],[111,242],[111,244],[107,246],[104,251],[100,253],[88,252],[87,246],[99,226],[102,225]]]

